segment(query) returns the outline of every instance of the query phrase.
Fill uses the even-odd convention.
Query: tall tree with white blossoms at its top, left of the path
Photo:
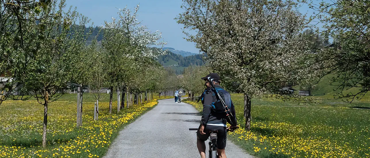
[[[104,39],[102,48],[105,53],[105,68],[110,76],[108,84],[110,85],[110,106],[112,111],[112,93],[113,87],[127,85],[129,77],[136,68],[147,65],[151,58],[158,56],[160,51],[153,51],[149,46],[163,45],[165,42],[158,42],[162,38],[159,31],[152,32],[146,26],[140,26],[137,20],[137,11],[139,5],[135,7],[134,12],[125,7],[119,9],[118,19],[112,18],[112,22],[105,22]]]

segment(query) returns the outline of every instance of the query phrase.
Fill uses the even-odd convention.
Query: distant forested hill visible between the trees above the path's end
[[[176,74],[182,74],[184,68],[189,65],[203,65],[202,57],[199,54],[183,57],[179,54],[168,51],[167,54],[158,57],[158,62],[164,67],[171,67]]]

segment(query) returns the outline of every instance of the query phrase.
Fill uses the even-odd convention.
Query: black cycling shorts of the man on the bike
[[[208,138],[209,138],[209,131],[212,131],[212,130],[217,130],[217,148],[218,149],[225,149],[226,147],[226,127],[223,127],[223,126],[214,126],[214,125],[206,125],[206,127],[204,128],[204,131],[206,134],[205,135],[202,135],[200,132],[199,132],[199,129],[198,131],[196,132],[196,137],[198,137],[198,139],[201,139],[202,141],[206,141]]]

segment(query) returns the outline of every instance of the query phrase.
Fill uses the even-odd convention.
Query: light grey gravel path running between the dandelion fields
[[[198,128],[200,118],[192,105],[159,100],[156,107],[120,131],[104,158],[200,158],[195,131],[189,131]],[[208,141],[206,146],[208,151]],[[226,155],[253,158],[230,141]]]

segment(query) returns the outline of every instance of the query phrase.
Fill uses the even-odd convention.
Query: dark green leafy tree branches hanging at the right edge
[[[328,74],[335,74],[336,99],[352,102],[370,91],[369,7],[366,0],[335,0],[310,4],[312,19],[323,23],[317,28],[331,45],[319,49],[318,62]]]

